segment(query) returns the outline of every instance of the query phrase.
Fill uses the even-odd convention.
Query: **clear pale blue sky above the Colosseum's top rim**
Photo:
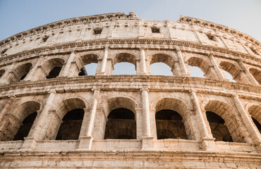
[[[130,11],[150,20],[200,18],[261,41],[261,0],[0,0],[0,40],[57,20]]]

